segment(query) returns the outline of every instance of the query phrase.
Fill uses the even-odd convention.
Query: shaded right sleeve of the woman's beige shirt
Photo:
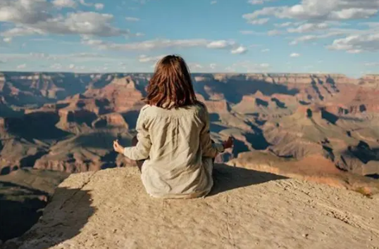
[[[204,107],[204,114],[202,115],[204,127],[200,132],[200,143],[203,152],[203,157],[216,158],[218,153],[224,152],[224,146],[221,143],[212,143],[210,132],[209,113]]]

